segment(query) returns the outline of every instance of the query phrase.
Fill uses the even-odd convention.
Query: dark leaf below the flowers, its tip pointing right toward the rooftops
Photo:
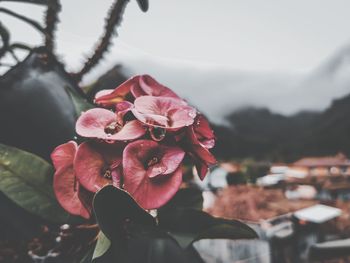
[[[159,226],[170,231],[183,247],[189,247],[200,239],[251,239],[257,234],[238,220],[213,217],[193,209],[173,209],[159,213]]]

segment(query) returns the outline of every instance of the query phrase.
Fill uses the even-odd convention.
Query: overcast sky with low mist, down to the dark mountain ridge
[[[294,114],[324,110],[350,93],[350,0],[149,1],[142,13],[130,0],[119,37],[83,84],[121,63],[127,75],[151,74],[220,123],[240,107]],[[74,71],[101,35],[112,1],[61,2],[57,53]],[[0,7],[39,21],[45,11]],[[30,27],[0,15],[14,40],[42,43]]]

